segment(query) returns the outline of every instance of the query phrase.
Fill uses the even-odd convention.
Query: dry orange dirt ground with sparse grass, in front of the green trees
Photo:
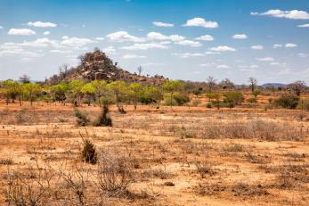
[[[110,108],[111,128],[77,127],[70,105],[0,102],[0,205],[21,196],[27,205],[309,205],[309,112],[125,110]],[[96,185],[97,164],[81,160],[85,139],[108,160],[133,162],[126,193]]]

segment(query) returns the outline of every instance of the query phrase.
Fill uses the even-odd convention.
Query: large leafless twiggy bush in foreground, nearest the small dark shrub
[[[128,186],[134,182],[134,165],[126,154],[102,152],[98,159],[97,182],[102,192],[110,196],[128,194]]]

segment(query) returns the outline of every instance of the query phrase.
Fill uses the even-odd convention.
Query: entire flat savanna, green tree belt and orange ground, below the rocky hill
[[[0,202],[308,205],[308,88],[249,84],[5,80]]]

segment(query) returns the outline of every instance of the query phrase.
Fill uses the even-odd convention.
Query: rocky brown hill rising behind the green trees
[[[156,75],[145,77],[136,73],[130,73],[118,67],[118,63],[112,62],[102,51],[96,49],[92,53],[79,56],[80,64],[75,68],[63,67],[59,75],[49,78],[49,82],[70,81],[74,79],[107,81],[125,80],[126,82],[140,82],[150,85],[159,85],[166,78]]]

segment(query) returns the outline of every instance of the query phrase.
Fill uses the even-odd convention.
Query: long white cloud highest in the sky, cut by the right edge
[[[276,18],[286,18],[291,20],[309,20],[309,13],[299,10],[281,11],[280,9],[272,9],[267,12],[251,12],[251,15],[268,15]]]

